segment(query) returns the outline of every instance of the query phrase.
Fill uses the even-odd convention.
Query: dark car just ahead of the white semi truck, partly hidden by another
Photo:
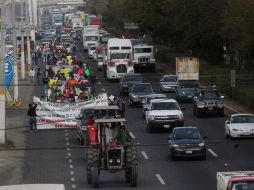
[[[120,95],[127,96],[133,84],[141,83],[142,76],[140,74],[126,74],[120,81]]]

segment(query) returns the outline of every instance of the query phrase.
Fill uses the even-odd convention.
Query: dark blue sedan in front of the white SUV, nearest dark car
[[[197,127],[176,127],[169,137],[170,160],[198,157],[206,159],[204,138]]]

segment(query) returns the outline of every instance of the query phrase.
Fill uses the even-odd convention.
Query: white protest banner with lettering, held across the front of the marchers
[[[34,97],[33,101],[37,104],[37,129],[76,128],[75,117],[80,114],[82,108],[108,106],[105,93],[85,102],[46,102],[38,97]]]

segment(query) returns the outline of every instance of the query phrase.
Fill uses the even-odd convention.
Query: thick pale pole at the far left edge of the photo
[[[1,1],[0,144],[5,143],[5,1]]]

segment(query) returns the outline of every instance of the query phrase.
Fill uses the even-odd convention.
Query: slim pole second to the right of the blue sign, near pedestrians
[[[21,0],[21,78],[24,80],[25,75],[25,47],[24,47],[24,0]]]

